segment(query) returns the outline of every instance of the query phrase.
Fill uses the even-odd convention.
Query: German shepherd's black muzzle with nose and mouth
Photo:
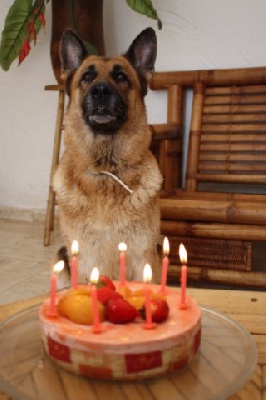
[[[127,118],[127,105],[115,87],[97,83],[84,98],[83,117],[94,131],[114,133]]]

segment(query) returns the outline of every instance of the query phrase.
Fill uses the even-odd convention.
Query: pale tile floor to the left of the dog
[[[43,246],[43,222],[0,220],[0,305],[49,292],[51,267],[61,246],[58,228]]]

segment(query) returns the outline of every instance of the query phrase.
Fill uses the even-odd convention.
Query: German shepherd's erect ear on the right
[[[157,37],[155,31],[152,28],[142,31],[132,42],[124,56],[135,68],[141,80],[143,81],[144,79],[146,81],[147,86],[147,80],[150,79],[154,70],[157,56]]]

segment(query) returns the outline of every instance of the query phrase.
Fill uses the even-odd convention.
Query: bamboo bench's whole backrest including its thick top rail
[[[193,89],[186,190],[266,193],[266,68],[159,72],[151,81],[173,86]]]

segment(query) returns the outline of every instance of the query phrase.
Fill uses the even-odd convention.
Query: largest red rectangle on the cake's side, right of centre
[[[152,351],[143,354],[126,354],[125,362],[127,373],[146,371],[153,368],[161,367],[162,352]]]

